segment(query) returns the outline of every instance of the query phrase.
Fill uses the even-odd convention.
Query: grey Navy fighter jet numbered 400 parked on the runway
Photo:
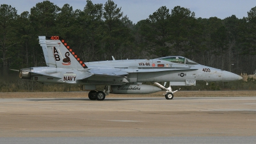
[[[241,76],[217,68],[200,65],[182,56],[166,56],[145,60],[82,61],[74,49],[60,36],[39,36],[47,67],[19,70],[20,79],[40,83],[80,84],[90,90],[90,100],[104,100],[109,93],[147,94],[166,90],[166,99],[173,99],[172,86],[195,86],[196,81],[237,81]],[[165,88],[157,82],[170,81]],[[154,82],[157,86],[142,84]],[[106,85],[97,90],[97,85]]]

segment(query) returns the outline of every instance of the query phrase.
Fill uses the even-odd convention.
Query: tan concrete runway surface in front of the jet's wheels
[[[0,99],[0,141],[6,143],[95,137],[103,138],[101,143],[106,138],[113,143],[143,143],[144,138],[253,143],[255,124],[256,97]]]

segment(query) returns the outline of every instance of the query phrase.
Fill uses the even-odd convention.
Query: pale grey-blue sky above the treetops
[[[105,4],[107,0],[92,0],[93,4]],[[147,19],[149,15],[156,12],[161,6],[169,8],[170,12],[175,6],[189,8],[195,12],[195,16],[207,18],[218,17],[225,19],[231,15],[236,15],[242,19],[247,17],[253,7],[256,6],[256,0],[113,0],[118,8],[122,7],[122,12],[127,15],[133,23]],[[8,4],[16,8],[18,14],[28,11],[43,0],[0,0],[0,4]],[[86,0],[51,0],[60,8],[63,4],[70,4],[73,10],[83,10]]]

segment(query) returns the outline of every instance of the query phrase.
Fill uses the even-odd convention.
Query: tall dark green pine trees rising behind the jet
[[[43,1],[20,15],[1,4],[0,68],[45,66],[40,35],[63,37],[83,61],[179,55],[236,74],[256,69],[256,6],[243,19],[202,19],[189,8],[162,6],[134,24],[110,0],[87,0],[84,10]]]

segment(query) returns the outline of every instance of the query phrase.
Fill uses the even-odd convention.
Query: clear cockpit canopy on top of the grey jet
[[[191,61],[188,58],[184,58],[183,56],[166,56],[163,58],[157,58],[159,60],[170,61],[172,63],[181,63],[187,65],[198,65],[195,61]]]

